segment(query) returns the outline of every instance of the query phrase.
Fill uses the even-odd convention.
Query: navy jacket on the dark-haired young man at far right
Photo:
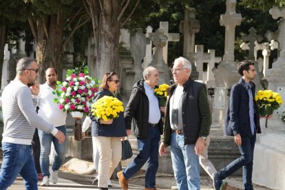
[[[251,93],[253,94],[255,132],[260,134],[260,116],[254,98],[255,84],[253,82],[250,83],[252,85]],[[251,122],[249,120],[249,92],[246,89],[246,82],[243,78],[240,78],[240,81],[231,87],[224,128],[224,133],[228,136],[235,136],[236,134],[252,136]]]

